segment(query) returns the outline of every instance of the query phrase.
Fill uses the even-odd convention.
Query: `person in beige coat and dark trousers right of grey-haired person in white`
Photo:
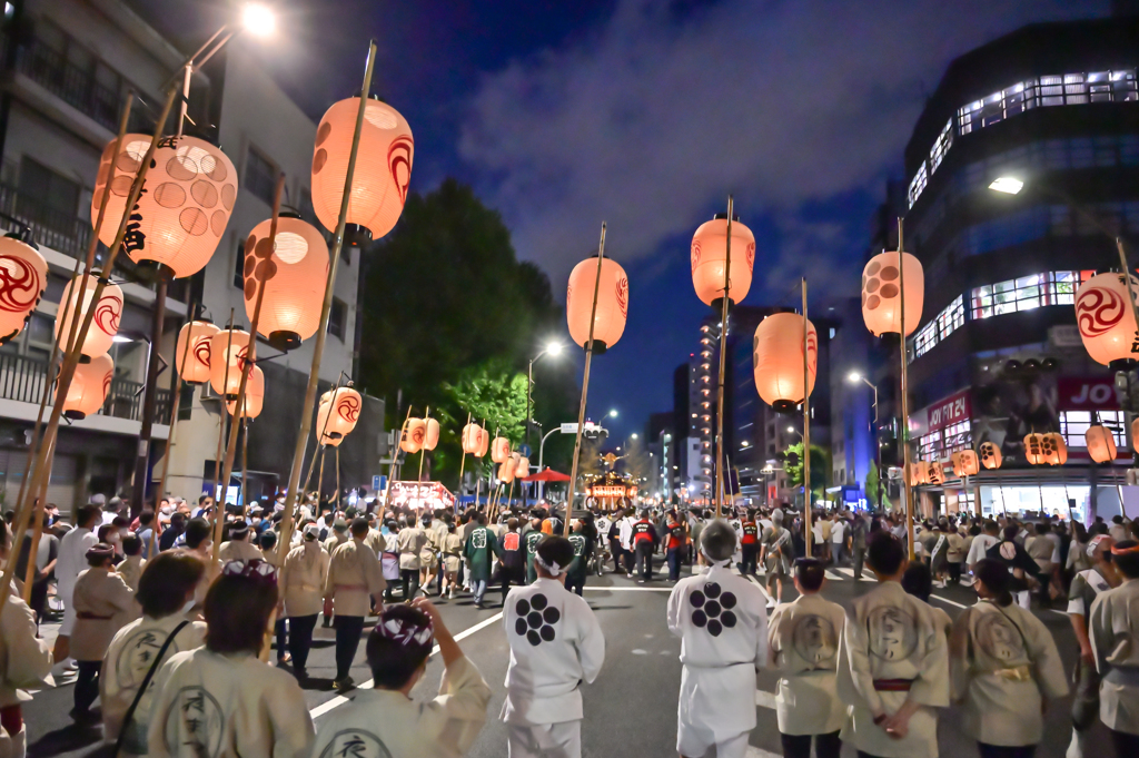
[[[846,703],[838,699],[838,639],[846,612],[819,594],[826,570],[817,559],[795,562],[798,597],[777,605],[768,621],[771,660],[779,669],[776,718],[786,758],[838,758]]]

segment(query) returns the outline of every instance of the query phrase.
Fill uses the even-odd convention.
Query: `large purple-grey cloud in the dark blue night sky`
[[[519,255],[555,280],[596,244],[603,219],[614,254],[645,258],[691,234],[729,191],[741,214],[776,220],[778,260],[810,252],[825,268],[850,235],[865,245],[865,222],[806,223],[804,204],[877,197],[950,59],[1024,23],[1105,9],[720,0],[681,22],[669,3],[618,0],[573,43],[484,75],[459,154]]]

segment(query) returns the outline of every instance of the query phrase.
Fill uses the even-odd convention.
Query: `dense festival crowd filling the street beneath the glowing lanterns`
[[[222,508],[162,500],[131,517],[117,498],[77,510],[71,527],[47,508],[31,605],[14,594],[0,614],[0,756],[22,755],[21,690],[54,662],[75,670],[73,718],[101,723],[132,756],[461,756],[491,698],[432,597],[501,592],[510,647],[500,714],[515,756],[581,755],[583,683],[605,638],[582,590],[613,571],[671,585],[667,626],[681,639],[677,750],[744,756],[756,725],[755,671],[779,674],[776,712],[788,757],[937,756],[939,709],[959,706],[983,758],[1032,756],[1048,700],[1075,690],[1070,758],[1101,720],[1116,755],[1139,748],[1139,524],[1090,528],[1041,516],[968,514],[915,523],[888,514],[748,510],[462,513],[323,508],[305,498],[282,533],[282,499]],[[493,523],[491,523],[493,521]],[[278,549],[286,539],[286,549]],[[812,557],[804,557],[810,540]],[[0,555],[9,549],[3,530]],[[850,562],[877,586],[844,610],[826,600],[827,567]],[[691,572],[682,571],[694,564]],[[757,581],[763,569],[767,592]],[[682,576],[682,573],[685,576]],[[63,622],[55,649],[38,635],[50,579]],[[869,577],[868,577],[869,578]],[[977,603],[956,621],[928,603],[934,585],[972,585]],[[784,603],[784,585],[797,596]],[[789,593],[788,593],[789,594]],[[1080,644],[1065,674],[1031,612],[1067,597]],[[374,625],[364,633],[368,620]],[[335,627],[341,693],[360,642],[372,686],[314,730],[303,690],[317,625]],[[410,699],[437,645],[439,696]],[[268,665],[276,654],[277,666]],[[98,701],[99,708],[95,708]],[[1090,756],[1089,756],[1090,758]]]

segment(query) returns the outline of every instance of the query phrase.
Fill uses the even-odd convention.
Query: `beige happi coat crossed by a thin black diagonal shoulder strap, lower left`
[[[161,619],[151,619],[144,616],[120,629],[107,647],[107,655],[103,659],[103,676],[99,677],[99,702],[103,703],[103,739],[108,743],[114,743],[118,739],[118,732],[123,727],[123,718],[126,709],[130,708],[142,679],[154,663],[162,645],[170,637],[178,625],[187,618],[181,613],[172,613]],[[178,636],[170,643],[163,661],[169,661],[171,657],[187,650],[200,647],[206,638],[205,621],[191,621],[178,633]],[[131,726],[123,739],[123,752],[142,756],[146,755],[147,727],[150,724],[150,707],[155,694],[157,671],[151,678],[146,693],[139,700],[134,715],[131,717]]]

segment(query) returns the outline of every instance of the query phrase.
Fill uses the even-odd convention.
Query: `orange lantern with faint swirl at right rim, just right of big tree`
[[[589,342],[589,316],[593,312],[593,285],[597,284],[597,318],[593,319],[593,352],[600,354],[617,344],[629,317],[629,277],[612,259],[601,261],[597,278],[597,255],[587,258],[570,272],[566,287],[566,323],[570,337],[582,348]]]

